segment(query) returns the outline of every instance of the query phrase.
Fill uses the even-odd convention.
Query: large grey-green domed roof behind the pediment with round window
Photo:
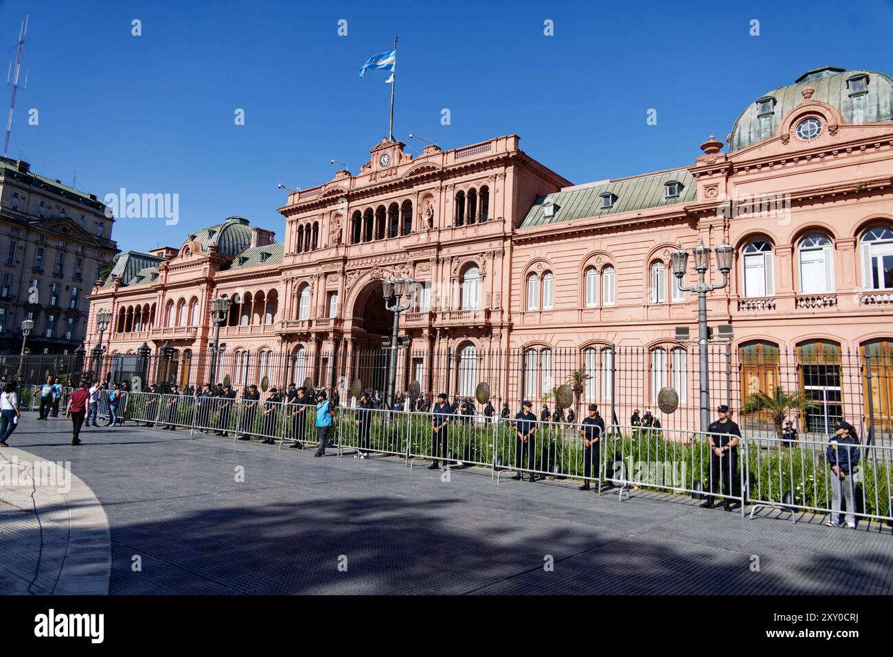
[[[864,88],[850,82],[865,76]],[[814,89],[808,100],[802,94],[806,87]],[[812,101],[837,108],[847,123],[893,121],[893,79],[879,71],[834,66],[806,71],[794,84],[772,89],[747,105],[731,129],[729,152],[776,137],[784,117],[798,104]]]

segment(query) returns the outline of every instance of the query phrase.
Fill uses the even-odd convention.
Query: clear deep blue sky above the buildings
[[[385,75],[359,79],[358,69],[395,34],[396,137],[421,150],[409,132],[444,148],[516,133],[574,183],[689,164],[746,104],[809,69],[893,71],[889,0],[0,0],[7,60],[26,13],[29,86],[10,155],[68,184],[77,171],[77,187],[100,198],[119,187],[179,194],[177,226],[119,220],[122,249],[180,245],[233,214],[281,239],[277,182],[324,182],[332,158],[356,171],[387,135]],[[131,36],[133,19],[141,37]],[[553,37],[543,34],[547,19]],[[749,35],[752,19],[759,37]],[[4,127],[8,102],[4,87]],[[28,124],[32,107],[38,126]],[[234,124],[236,108],[246,125]]]

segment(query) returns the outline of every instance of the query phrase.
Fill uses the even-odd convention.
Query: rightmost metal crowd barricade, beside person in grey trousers
[[[833,439],[833,437],[830,437]],[[750,517],[760,508],[789,511],[797,521],[797,511],[832,513],[833,491],[837,485],[844,502],[841,513],[855,518],[893,521],[893,447],[857,445],[859,460],[853,472],[842,480],[830,469],[829,442],[783,440],[774,437],[747,438],[747,503]],[[843,447],[838,461],[847,461]],[[855,458],[853,459],[855,461]],[[845,509],[847,496],[853,509]],[[835,522],[839,519],[834,518]]]

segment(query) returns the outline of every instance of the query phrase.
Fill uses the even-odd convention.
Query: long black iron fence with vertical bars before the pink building
[[[703,357],[702,357],[703,356]],[[855,426],[867,444],[893,444],[893,356],[887,343],[858,352],[816,343],[786,352],[769,343],[745,346],[668,344],[653,348],[593,345],[584,349],[526,350],[377,349],[371,351],[261,350],[220,353],[216,382],[236,390],[255,384],[263,391],[289,383],[338,391],[349,402],[359,380],[363,389],[384,395],[388,365],[396,358],[396,402],[406,403],[417,381],[421,397],[432,403],[445,392],[451,403],[469,413],[488,412],[476,397],[480,383],[489,388],[495,416],[514,415],[522,400],[534,404],[539,419],[581,418],[589,403],[614,425],[637,423],[668,429],[700,428],[701,381],[705,370],[708,408],[715,417],[721,403],[752,436],[780,437],[785,421],[799,437],[825,436],[838,420]],[[149,383],[196,390],[209,382],[212,353],[106,354],[101,362],[77,356],[0,357],[0,376],[40,384],[58,376],[76,379]],[[570,387],[571,405],[559,408]],[[669,389],[669,390],[668,390]],[[662,394],[663,391],[663,394]],[[663,400],[663,403],[661,401]],[[413,403],[413,406],[416,404]]]

